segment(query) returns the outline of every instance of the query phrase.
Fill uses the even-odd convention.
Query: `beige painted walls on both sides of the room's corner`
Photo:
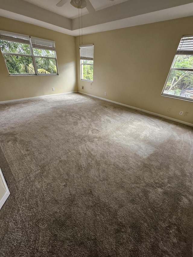
[[[59,68],[59,76],[9,76],[0,53],[0,101],[76,91],[78,77],[79,91],[193,124],[193,102],[160,96],[181,36],[193,34],[192,23],[185,17],[83,36],[83,44],[94,43],[90,86],[80,80],[78,37],[75,47],[73,36],[0,17],[0,30],[54,40]]]

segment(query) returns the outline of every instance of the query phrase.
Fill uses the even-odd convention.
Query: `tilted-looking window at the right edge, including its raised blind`
[[[162,96],[193,101],[193,35],[182,37]]]

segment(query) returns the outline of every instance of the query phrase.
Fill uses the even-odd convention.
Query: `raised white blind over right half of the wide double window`
[[[30,37],[33,48],[55,51],[55,41]]]

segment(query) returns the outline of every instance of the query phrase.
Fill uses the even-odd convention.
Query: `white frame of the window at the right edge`
[[[166,94],[164,93],[165,91],[165,87],[167,85],[167,82],[169,80],[169,77],[172,73],[172,71],[192,71],[193,72],[193,68],[178,68],[178,67],[174,67],[175,65],[175,62],[176,62],[176,59],[178,58],[179,55],[191,55],[193,56],[193,51],[190,51],[190,52],[187,52],[187,51],[184,51],[183,50],[183,41],[185,40],[185,38],[187,37],[193,37],[193,35],[184,35],[182,36],[180,42],[179,42],[179,45],[178,45],[178,49],[176,51],[176,54],[174,56],[174,59],[172,61],[172,65],[170,67],[170,70],[169,70],[169,74],[167,76],[167,79],[166,79],[166,82],[164,84],[164,87],[163,87],[163,90],[162,90],[162,93],[161,93],[161,96],[166,96],[166,97],[171,97],[171,98],[176,98],[176,99],[182,99],[182,100],[185,100],[185,101],[190,101],[190,102],[193,102],[193,98],[188,98],[188,97],[185,97],[185,96],[177,96],[177,95],[171,95],[171,94]],[[182,43],[181,43],[182,42]],[[182,50],[181,50],[182,48]],[[183,90],[183,89],[182,89]],[[182,91],[181,90],[181,91]],[[188,95],[188,94],[187,94]],[[190,94],[191,95],[191,94]]]

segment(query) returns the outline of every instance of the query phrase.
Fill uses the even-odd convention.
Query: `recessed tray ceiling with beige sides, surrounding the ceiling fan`
[[[78,9],[70,0],[1,0],[0,16],[45,27],[73,36],[79,35]],[[82,11],[83,34],[131,27],[162,20],[193,16],[193,0],[90,0],[95,12]],[[1,25],[0,25],[1,29]]]

